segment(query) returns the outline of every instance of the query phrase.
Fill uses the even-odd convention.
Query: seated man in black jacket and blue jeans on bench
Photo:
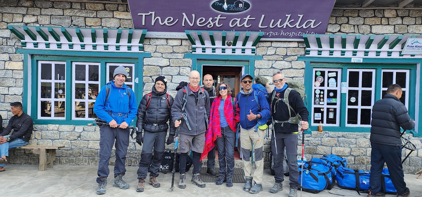
[[[4,166],[9,156],[9,149],[27,145],[33,130],[32,118],[22,111],[22,103],[11,103],[10,108],[14,116],[0,133],[0,172],[5,171]],[[12,129],[13,133],[8,135]]]

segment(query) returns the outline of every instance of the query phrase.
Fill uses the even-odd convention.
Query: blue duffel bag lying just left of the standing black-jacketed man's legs
[[[340,166],[337,168],[337,175],[335,176],[335,179],[341,189],[356,190],[356,192],[360,195],[360,192],[369,189],[370,174],[371,173],[368,171],[352,170],[350,168]]]

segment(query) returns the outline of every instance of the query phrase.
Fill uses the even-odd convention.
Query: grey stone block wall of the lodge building
[[[421,9],[335,9],[330,17],[327,34],[420,35]],[[15,53],[21,44],[7,30],[7,25],[133,28],[129,8],[124,4],[0,0],[0,115],[5,119],[3,126],[12,116],[9,103],[22,102],[23,91],[22,54]],[[184,58],[184,54],[192,51],[189,40],[145,39],[144,50],[151,53],[151,57],[143,61],[143,92],[149,92],[155,78],[164,75],[168,79],[169,93],[174,96],[177,84],[186,81],[191,71],[192,60]],[[257,46],[257,55],[262,55],[263,59],[255,61],[254,75],[271,79],[275,71],[283,70],[285,77],[303,81],[305,63],[297,59],[304,54],[303,42],[261,41]],[[305,139],[306,157],[310,159],[324,154],[338,154],[348,159],[349,167],[369,170],[369,135],[312,132]],[[95,126],[35,125],[30,144],[65,146],[57,151],[55,162],[59,164],[97,165],[99,138],[99,128]],[[411,173],[422,166],[422,138],[409,138],[418,148],[404,164],[405,171]],[[269,141],[264,147],[267,152],[268,145]],[[298,145],[300,153],[301,146]],[[173,147],[170,145],[167,148]],[[126,165],[138,165],[140,155],[141,146],[130,139]],[[265,157],[268,167],[268,154]],[[30,150],[13,150],[11,163],[38,164],[38,156]],[[110,165],[113,164],[112,158]]]

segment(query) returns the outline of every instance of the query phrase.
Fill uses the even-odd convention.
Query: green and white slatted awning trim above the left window
[[[23,49],[143,52],[146,30],[9,25]]]

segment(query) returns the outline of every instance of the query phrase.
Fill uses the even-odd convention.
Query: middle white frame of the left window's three
[[[85,65],[85,81],[77,81],[76,80],[76,65]],[[97,65],[98,66],[98,81],[89,81],[89,65]],[[93,118],[88,117],[88,103],[93,102],[95,103],[95,99],[89,99],[89,86],[88,84],[98,84],[97,91],[100,92],[101,88],[101,63],[100,62],[72,62],[72,120],[94,120]],[[84,99],[75,99],[76,94],[76,85],[75,84],[85,84],[85,98]],[[85,118],[78,118],[75,116],[76,112],[76,102],[84,102],[85,103]]]

